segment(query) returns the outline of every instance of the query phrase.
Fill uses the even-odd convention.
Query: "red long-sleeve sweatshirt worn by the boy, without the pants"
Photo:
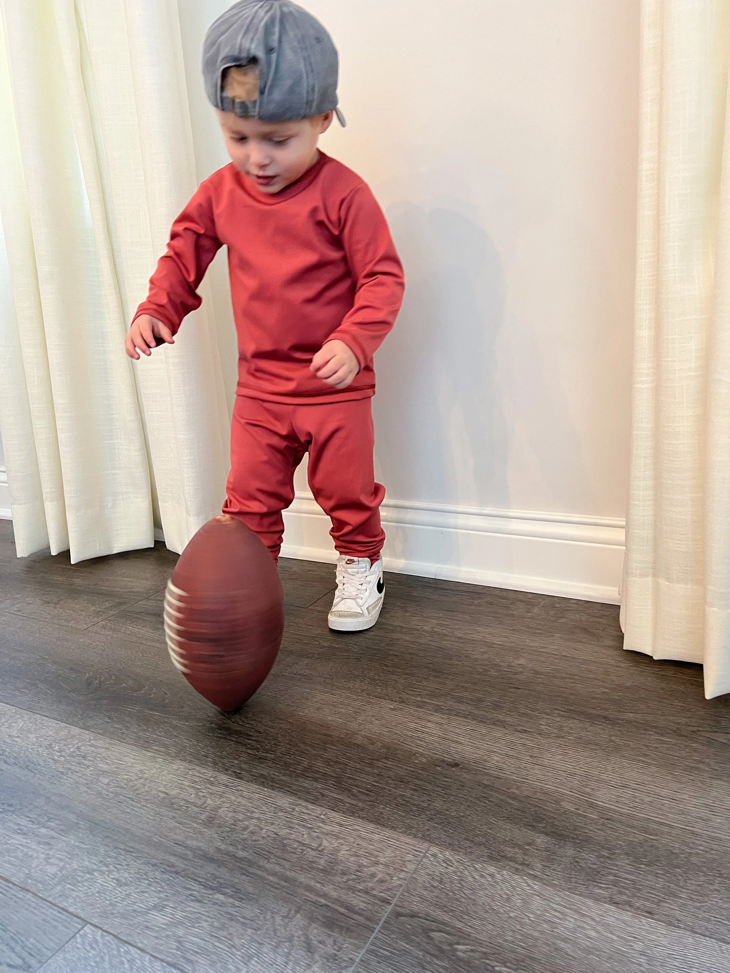
[[[175,334],[201,305],[196,293],[228,246],[238,335],[237,393],[274,402],[363,399],[375,393],[373,354],[403,299],[403,269],[369,187],[324,153],[272,196],[231,163],[206,179],[172,224],[167,250],[135,313]],[[324,342],[339,339],[360,371],[345,389],[310,372]]]

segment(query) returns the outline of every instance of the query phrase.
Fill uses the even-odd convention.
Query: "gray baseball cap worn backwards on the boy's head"
[[[223,93],[228,67],[256,64],[253,101]],[[338,108],[338,56],[332,38],[310,13],[290,0],[239,0],[215,20],[202,46],[205,93],[214,108],[263,122],[293,122]]]

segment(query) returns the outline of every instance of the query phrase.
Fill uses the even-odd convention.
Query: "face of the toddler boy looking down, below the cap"
[[[237,169],[271,196],[299,179],[316,162],[317,140],[332,124],[332,112],[300,122],[240,119],[216,112],[226,148]]]

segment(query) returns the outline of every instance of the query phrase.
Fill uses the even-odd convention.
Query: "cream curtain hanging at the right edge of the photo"
[[[642,0],[624,646],[730,692],[730,0]]]

